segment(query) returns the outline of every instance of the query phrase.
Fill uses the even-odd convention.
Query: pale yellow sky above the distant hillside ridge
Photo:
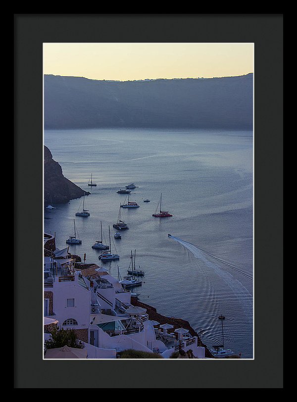
[[[94,80],[212,78],[253,73],[247,43],[44,43],[44,74]]]

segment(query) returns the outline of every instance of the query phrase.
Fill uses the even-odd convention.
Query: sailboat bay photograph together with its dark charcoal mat
[[[15,14],[15,388],[283,387],[282,30]]]

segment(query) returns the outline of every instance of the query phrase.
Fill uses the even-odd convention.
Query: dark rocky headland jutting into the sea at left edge
[[[62,204],[80,198],[84,190],[63,176],[61,166],[52,159],[48,147],[44,146],[44,202],[45,205]],[[86,191],[86,195],[90,194]]]

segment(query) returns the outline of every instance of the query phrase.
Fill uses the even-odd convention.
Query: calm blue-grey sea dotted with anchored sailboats
[[[45,210],[44,229],[56,233],[56,246],[65,248],[73,234],[73,219],[81,245],[73,254],[100,266],[100,240],[120,255],[104,264],[118,277],[127,275],[131,250],[136,267],[145,271],[134,289],[140,301],[166,316],[186,319],[203,332],[211,347],[253,357],[253,136],[249,131],[164,131],[135,129],[49,130],[45,145],[63,175],[91,195],[85,197],[90,217],[75,217],[82,199]],[[88,186],[93,174],[97,187]],[[121,208],[130,227],[122,239],[113,237],[120,188],[134,182],[130,201],[140,208]],[[171,218],[153,218],[160,193],[162,210]],[[149,199],[145,203],[143,200]],[[127,201],[127,200],[126,200]],[[174,237],[168,237],[170,233]]]

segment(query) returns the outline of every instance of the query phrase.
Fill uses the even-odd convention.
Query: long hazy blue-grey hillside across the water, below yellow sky
[[[253,124],[253,74],[125,82],[45,75],[44,94],[46,129],[251,129]]]

